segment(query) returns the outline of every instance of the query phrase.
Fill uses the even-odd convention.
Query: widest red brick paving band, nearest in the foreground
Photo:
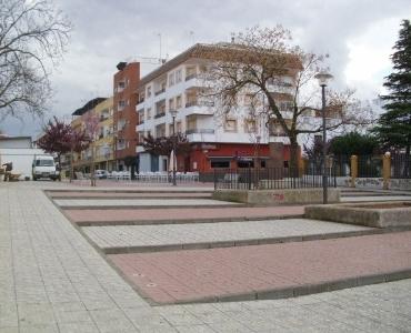
[[[411,232],[109,258],[146,295],[172,303],[410,270]]]

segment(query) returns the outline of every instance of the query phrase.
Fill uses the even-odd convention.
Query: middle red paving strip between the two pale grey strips
[[[147,220],[193,220],[230,219],[230,218],[264,218],[299,215],[304,206],[269,206],[269,208],[199,208],[199,209],[117,209],[117,210],[67,210],[66,214],[73,221],[147,221]]]

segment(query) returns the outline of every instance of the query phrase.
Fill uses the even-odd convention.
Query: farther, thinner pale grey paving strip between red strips
[[[122,199],[122,200],[96,200],[96,199],[58,199],[54,202],[61,208],[81,206],[221,206],[235,205],[233,202],[212,199]]]

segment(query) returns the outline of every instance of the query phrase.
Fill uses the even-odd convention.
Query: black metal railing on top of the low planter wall
[[[327,169],[328,186],[337,186],[334,168]],[[237,170],[214,170],[214,189],[230,190],[273,190],[321,188],[322,171],[317,169],[292,168],[243,168]]]

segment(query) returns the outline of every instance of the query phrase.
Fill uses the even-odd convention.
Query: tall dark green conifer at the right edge
[[[393,72],[388,75],[384,87],[389,94],[382,95],[387,110],[373,132],[382,145],[389,149],[411,148],[411,26],[403,20],[399,39],[391,56]]]

